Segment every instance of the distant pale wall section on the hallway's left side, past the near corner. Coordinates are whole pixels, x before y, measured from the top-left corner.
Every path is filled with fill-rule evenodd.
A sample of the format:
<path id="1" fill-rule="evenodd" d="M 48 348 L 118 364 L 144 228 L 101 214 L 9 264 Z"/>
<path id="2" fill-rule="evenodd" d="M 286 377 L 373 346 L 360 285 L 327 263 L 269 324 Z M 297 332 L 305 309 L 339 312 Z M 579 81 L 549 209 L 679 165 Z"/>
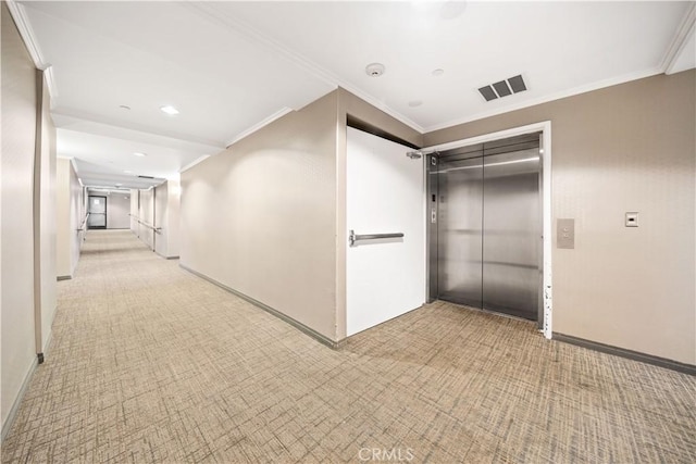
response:
<path id="1" fill-rule="evenodd" d="M 72 278 L 79 260 L 83 222 L 82 186 L 70 159 L 59 158 L 55 167 L 55 273 Z"/>

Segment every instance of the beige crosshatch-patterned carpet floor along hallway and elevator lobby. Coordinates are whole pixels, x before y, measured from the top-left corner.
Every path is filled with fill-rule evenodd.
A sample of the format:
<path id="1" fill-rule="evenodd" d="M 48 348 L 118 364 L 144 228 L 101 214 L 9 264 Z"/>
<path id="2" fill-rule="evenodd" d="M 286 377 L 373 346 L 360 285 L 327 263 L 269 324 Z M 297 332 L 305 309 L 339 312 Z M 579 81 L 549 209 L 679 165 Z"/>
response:
<path id="1" fill-rule="evenodd" d="M 694 463 L 696 378 L 437 302 L 338 351 L 90 231 L 3 463 Z"/>

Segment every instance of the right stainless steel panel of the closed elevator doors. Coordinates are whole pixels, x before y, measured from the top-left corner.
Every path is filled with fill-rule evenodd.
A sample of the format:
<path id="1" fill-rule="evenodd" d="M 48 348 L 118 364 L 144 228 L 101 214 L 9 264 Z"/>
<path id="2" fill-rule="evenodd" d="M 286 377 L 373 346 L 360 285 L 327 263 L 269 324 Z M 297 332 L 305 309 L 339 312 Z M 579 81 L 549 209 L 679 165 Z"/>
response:
<path id="1" fill-rule="evenodd" d="M 536 319 L 539 298 L 538 148 L 484 156 L 483 308 Z"/>

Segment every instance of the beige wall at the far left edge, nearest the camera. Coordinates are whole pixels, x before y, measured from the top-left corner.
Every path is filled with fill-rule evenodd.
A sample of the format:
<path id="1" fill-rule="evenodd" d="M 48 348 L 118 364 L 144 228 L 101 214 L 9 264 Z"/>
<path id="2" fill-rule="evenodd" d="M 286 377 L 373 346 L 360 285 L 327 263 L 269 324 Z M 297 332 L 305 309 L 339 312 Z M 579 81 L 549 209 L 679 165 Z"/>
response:
<path id="1" fill-rule="evenodd" d="M 33 177 L 36 75 L 4 2 L 2 15 L 1 417 L 2 431 L 36 360 Z"/>

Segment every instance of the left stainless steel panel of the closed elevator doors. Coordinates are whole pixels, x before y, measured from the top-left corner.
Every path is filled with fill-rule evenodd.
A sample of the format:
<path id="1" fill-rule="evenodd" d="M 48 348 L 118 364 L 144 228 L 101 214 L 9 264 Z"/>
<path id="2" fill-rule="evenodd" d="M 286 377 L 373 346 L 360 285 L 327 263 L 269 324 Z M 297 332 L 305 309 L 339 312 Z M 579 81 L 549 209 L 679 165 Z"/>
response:
<path id="1" fill-rule="evenodd" d="M 437 168 L 437 293 L 482 308 L 483 161 L 452 158 Z"/>

